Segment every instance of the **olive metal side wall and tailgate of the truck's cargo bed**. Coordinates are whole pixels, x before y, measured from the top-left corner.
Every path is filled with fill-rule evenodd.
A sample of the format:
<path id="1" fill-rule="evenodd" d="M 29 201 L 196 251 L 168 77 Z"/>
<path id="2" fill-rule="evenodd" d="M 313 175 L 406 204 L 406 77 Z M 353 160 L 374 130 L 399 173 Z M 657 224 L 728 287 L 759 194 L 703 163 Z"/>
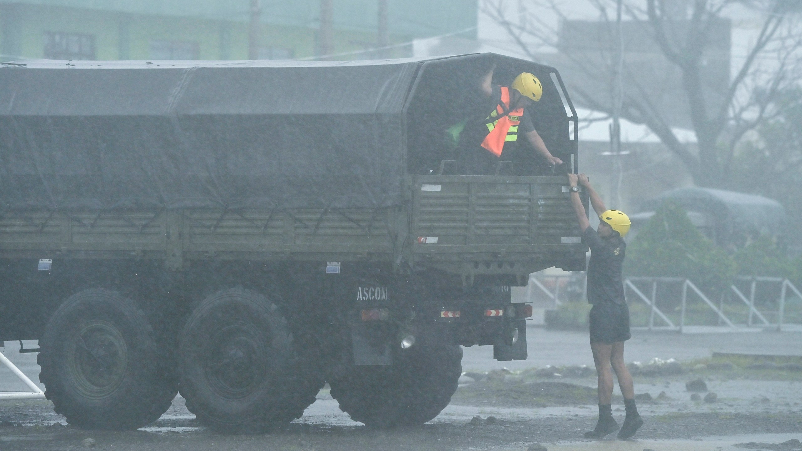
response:
<path id="1" fill-rule="evenodd" d="M 476 274 L 584 266 L 565 177 L 410 176 L 383 209 L 14 210 L 4 258 L 407 262 Z"/>

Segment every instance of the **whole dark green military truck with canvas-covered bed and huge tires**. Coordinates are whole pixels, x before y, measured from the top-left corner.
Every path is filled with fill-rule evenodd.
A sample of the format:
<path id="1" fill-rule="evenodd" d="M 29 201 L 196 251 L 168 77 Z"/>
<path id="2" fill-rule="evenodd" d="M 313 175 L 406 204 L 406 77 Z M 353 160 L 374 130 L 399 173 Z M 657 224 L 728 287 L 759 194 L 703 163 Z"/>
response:
<path id="1" fill-rule="evenodd" d="M 444 130 L 481 113 L 494 64 L 541 79 L 562 175 L 454 169 Z M 0 340 L 39 340 L 47 398 L 84 428 L 148 425 L 180 392 L 259 431 L 326 382 L 356 421 L 423 424 L 460 345 L 526 358 L 510 286 L 584 268 L 576 123 L 553 67 L 492 54 L 2 63 Z"/>

